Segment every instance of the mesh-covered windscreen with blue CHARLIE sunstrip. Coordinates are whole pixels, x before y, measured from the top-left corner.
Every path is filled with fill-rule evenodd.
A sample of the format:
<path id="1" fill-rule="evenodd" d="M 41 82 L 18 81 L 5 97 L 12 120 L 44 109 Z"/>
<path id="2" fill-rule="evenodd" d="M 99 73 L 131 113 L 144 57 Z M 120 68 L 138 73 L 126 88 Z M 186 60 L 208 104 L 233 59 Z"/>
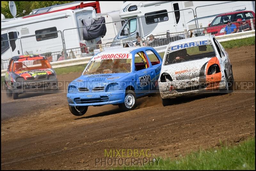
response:
<path id="1" fill-rule="evenodd" d="M 192 43 L 194 43 L 194 46 Z M 207 44 L 206 42 L 205 44 L 201 43 L 202 45 L 200 45 L 200 42 L 192 43 L 185 43 L 169 47 L 167 50 L 164 65 L 216 56 L 212 44 L 210 44 L 210 41 L 208 41 L 209 44 Z M 187 47 L 186 45 L 191 45 L 193 47 L 183 48 L 184 46 Z"/>

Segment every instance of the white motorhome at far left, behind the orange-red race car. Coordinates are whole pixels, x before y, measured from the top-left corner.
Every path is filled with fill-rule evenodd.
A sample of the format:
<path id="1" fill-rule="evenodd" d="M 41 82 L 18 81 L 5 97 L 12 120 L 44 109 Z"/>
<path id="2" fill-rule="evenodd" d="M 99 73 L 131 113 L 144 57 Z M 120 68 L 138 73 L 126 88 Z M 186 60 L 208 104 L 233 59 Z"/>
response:
<path id="1" fill-rule="evenodd" d="M 4 19 L 1 21 L 1 59 L 9 59 L 22 53 L 43 54 L 59 51 L 60 54 L 63 50 L 60 32 L 63 33 L 63 30 L 69 28 L 83 27 L 82 19 L 86 21 L 92 18 L 96 18 L 94 8 L 86 7 Z M 47 34 L 54 31 L 60 32 Z M 90 41 L 83 40 L 83 28 L 66 30 L 63 34 L 66 49 L 73 49 L 76 51 L 75 55 L 80 57 L 89 53 L 86 48 L 80 47 L 93 47 L 100 41 L 100 37 Z M 56 57 L 53 58 L 56 60 Z"/>

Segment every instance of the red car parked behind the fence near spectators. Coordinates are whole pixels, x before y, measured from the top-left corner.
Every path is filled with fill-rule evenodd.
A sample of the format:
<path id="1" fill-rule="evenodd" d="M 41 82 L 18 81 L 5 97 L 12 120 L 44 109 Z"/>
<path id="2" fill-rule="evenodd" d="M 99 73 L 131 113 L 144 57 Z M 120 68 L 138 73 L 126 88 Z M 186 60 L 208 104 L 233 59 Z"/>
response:
<path id="1" fill-rule="evenodd" d="M 206 28 L 207 34 L 210 33 L 211 35 L 215 36 L 224 35 L 228 19 L 230 19 L 232 24 L 236 25 L 237 29 L 240 26 L 240 22 L 237 22 L 237 19 L 245 19 L 250 28 L 252 28 L 250 19 L 253 19 L 253 25 L 255 28 L 255 13 L 253 11 L 237 11 L 220 14 L 215 17 L 212 23 L 208 25 L 209 27 Z"/>

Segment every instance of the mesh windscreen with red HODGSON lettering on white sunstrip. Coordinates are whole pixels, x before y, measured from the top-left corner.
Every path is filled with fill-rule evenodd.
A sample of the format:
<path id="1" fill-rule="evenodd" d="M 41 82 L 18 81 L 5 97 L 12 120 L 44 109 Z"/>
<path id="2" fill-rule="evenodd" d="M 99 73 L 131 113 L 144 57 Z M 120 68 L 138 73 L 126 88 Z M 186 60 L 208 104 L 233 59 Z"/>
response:
<path id="1" fill-rule="evenodd" d="M 83 75 L 130 73 L 132 68 L 132 54 L 101 54 L 92 58 L 86 66 Z"/>

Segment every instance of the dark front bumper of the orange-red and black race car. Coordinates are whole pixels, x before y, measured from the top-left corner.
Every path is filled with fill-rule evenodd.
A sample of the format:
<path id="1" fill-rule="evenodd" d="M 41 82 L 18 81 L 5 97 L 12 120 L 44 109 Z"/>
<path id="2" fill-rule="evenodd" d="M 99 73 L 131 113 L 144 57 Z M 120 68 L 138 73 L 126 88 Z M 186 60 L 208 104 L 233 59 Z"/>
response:
<path id="1" fill-rule="evenodd" d="M 40 80 L 40 81 L 18 81 L 10 86 L 13 93 L 25 93 L 30 91 L 44 91 L 49 89 L 58 89 L 58 80 Z"/>

